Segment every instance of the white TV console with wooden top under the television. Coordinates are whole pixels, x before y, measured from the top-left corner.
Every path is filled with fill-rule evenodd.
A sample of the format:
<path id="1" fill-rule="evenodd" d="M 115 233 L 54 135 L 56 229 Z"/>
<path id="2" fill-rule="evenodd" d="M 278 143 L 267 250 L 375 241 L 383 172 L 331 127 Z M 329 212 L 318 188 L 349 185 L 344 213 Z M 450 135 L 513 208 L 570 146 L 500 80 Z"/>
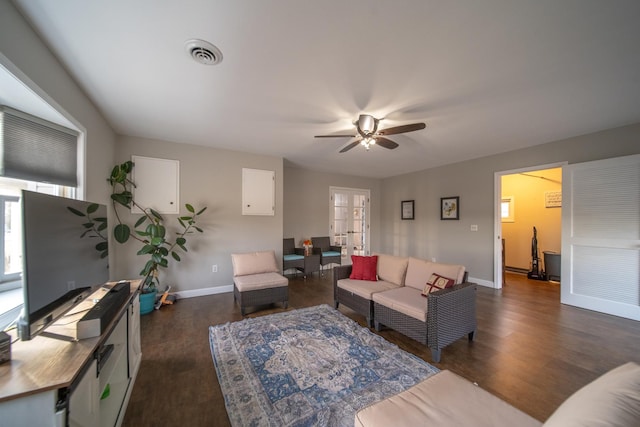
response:
<path id="1" fill-rule="evenodd" d="M 142 359 L 139 283 L 131 281 L 129 299 L 99 337 L 37 336 L 11 345 L 11 361 L 0 364 L 2 425 L 122 424 Z M 77 321 L 106 292 L 95 291 L 47 331 L 75 337 Z"/>

